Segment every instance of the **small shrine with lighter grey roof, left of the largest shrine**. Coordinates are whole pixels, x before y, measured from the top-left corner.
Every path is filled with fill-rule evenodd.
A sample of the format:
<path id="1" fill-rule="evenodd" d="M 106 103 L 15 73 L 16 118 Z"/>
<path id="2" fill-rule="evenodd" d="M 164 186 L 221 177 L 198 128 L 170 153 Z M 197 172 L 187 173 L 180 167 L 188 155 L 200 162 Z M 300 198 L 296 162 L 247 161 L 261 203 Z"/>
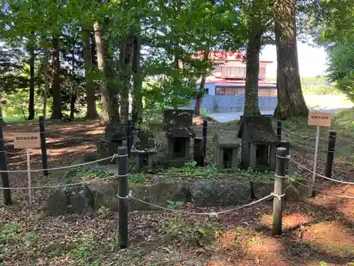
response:
<path id="1" fill-rule="evenodd" d="M 238 168 L 239 140 L 236 133 L 216 133 L 214 145 L 215 164 L 218 167 Z"/>

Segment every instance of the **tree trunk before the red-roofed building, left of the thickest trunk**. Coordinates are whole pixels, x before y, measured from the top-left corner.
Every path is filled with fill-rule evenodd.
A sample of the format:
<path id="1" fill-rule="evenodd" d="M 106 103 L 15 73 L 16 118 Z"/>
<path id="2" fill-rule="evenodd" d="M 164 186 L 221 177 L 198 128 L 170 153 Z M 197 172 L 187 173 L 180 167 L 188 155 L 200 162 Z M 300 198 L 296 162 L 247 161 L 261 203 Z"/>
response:
<path id="1" fill-rule="evenodd" d="M 258 74 L 261 45 L 262 33 L 255 33 L 250 36 L 246 50 L 245 116 L 261 115 L 258 106 Z"/>

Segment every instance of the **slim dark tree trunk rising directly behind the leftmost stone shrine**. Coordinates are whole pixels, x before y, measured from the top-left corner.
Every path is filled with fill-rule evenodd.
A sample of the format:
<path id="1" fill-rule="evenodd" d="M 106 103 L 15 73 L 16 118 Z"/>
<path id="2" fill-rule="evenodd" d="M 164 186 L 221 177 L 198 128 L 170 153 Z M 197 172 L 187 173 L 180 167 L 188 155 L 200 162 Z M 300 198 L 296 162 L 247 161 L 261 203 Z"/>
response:
<path id="1" fill-rule="evenodd" d="M 133 90 L 132 90 L 132 121 L 142 122 L 142 67 L 140 50 L 139 32 L 134 37 L 134 51 L 132 59 Z"/>

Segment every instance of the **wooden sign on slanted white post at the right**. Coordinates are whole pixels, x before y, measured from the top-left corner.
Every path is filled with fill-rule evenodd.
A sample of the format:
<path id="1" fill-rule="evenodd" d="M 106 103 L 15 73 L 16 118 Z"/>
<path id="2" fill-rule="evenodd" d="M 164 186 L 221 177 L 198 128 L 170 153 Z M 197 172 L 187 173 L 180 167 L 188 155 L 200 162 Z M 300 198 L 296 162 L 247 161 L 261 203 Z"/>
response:
<path id="1" fill-rule="evenodd" d="M 331 126 L 332 113 L 322 113 L 322 112 L 310 112 L 307 124 L 309 126 L 316 126 L 316 144 L 314 149 L 314 169 L 312 173 L 312 187 L 314 187 L 314 182 L 316 179 L 317 170 L 317 154 L 319 150 L 319 128 L 321 126 L 329 127 Z"/>

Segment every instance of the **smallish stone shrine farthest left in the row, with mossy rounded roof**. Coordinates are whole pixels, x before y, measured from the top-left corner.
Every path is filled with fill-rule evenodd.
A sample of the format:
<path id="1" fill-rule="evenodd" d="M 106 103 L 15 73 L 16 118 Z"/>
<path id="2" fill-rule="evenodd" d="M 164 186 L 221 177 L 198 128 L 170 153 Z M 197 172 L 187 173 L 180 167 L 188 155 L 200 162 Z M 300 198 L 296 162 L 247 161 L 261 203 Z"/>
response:
<path id="1" fill-rule="evenodd" d="M 152 171 L 153 155 L 157 153 L 156 140 L 152 131 L 137 131 L 130 153 L 135 157 L 135 170 Z"/>

